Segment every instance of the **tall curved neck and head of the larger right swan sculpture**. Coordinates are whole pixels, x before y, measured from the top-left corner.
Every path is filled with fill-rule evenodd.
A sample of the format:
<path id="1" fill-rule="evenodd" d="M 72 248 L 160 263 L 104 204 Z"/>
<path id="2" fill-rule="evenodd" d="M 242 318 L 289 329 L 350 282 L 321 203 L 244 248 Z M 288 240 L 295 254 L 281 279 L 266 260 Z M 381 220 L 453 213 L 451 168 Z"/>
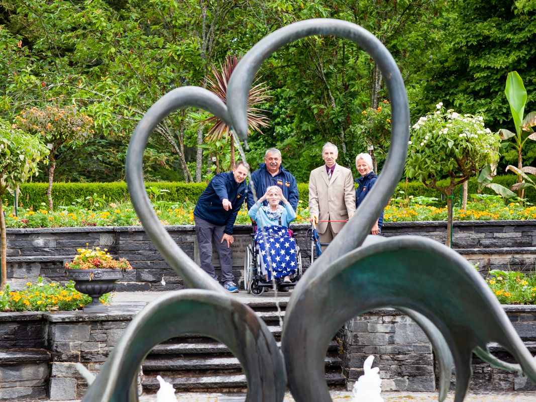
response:
<path id="1" fill-rule="evenodd" d="M 247 138 L 247 101 L 251 83 L 260 65 L 275 51 L 298 39 L 312 35 L 333 35 L 349 39 L 374 59 L 382 71 L 391 100 L 392 131 L 389 154 L 381 175 L 370 195 L 363 200 L 354 218 L 332 241 L 330 247 L 309 267 L 304 279 L 329 269 L 330 263 L 340 255 L 360 245 L 374 225 L 376 218 L 389 202 L 404 170 L 407 143 L 410 137 L 410 109 L 406 87 L 397 63 L 376 36 L 359 25 L 337 19 L 310 19 L 287 25 L 272 32 L 252 47 L 242 57 L 233 71 L 227 87 L 227 108 L 233 129 L 241 139 Z M 367 213 L 360 213 L 367 211 Z M 303 279 L 302 279 L 303 280 Z M 299 293 L 302 281 L 294 293 Z M 295 298 L 294 298 L 295 299 Z M 287 311 L 292 310 L 292 302 Z"/>

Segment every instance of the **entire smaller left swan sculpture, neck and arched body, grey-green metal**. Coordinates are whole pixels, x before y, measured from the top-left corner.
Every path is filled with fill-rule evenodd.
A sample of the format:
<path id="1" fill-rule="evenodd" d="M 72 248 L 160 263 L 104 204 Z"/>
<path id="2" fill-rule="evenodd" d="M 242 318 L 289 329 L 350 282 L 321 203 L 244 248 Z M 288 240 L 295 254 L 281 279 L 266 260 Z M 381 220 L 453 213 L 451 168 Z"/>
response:
<path id="1" fill-rule="evenodd" d="M 160 224 L 143 180 L 143 152 L 156 126 L 172 111 L 193 106 L 227 121 L 225 104 L 213 93 L 198 87 L 182 87 L 162 96 L 138 123 L 129 143 L 126 182 L 145 232 L 163 258 L 191 287 L 205 291 L 179 291 L 154 301 L 128 326 L 105 368 L 86 393 L 85 401 L 137 400 L 132 388 L 139 365 L 163 340 L 184 332 L 221 340 L 240 360 L 248 380 L 248 401 L 280 402 L 286 376 L 276 341 L 255 312 L 233 300 L 175 243 Z M 189 306 L 185 308 L 184 306 Z"/>

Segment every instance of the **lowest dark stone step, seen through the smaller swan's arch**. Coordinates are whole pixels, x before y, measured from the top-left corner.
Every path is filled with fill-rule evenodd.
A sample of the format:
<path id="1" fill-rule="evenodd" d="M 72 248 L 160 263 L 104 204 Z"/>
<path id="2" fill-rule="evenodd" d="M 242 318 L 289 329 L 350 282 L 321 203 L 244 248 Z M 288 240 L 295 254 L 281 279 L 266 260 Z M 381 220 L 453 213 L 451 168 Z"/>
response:
<path id="1" fill-rule="evenodd" d="M 161 374 L 160 374 L 161 375 Z M 218 392 L 221 390 L 245 389 L 247 382 L 244 374 L 211 374 L 211 375 L 192 375 L 183 377 L 169 377 L 161 375 L 167 382 L 173 384 L 177 390 L 196 390 Z M 330 386 L 344 385 L 344 376 L 340 373 L 326 373 L 326 382 Z M 154 392 L 160 388 L 156 375 L 144 376 L 142 386 L 146 392 Z"/>

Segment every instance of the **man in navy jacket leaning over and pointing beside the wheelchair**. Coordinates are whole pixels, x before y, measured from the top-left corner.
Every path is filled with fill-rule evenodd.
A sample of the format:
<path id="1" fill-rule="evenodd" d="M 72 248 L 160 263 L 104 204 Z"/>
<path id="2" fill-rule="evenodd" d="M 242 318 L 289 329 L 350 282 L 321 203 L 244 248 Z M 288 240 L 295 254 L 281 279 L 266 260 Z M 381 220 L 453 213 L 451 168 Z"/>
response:
<path id="1" fill-rule="evenodd" d="M 233 276 L 233 226 L 245 199 L 245 177 L 248 168 L 239 161 L 233 172 L 212 178 L 193 210 L 201 267 L 218 280 L 212 265 L 212 242 L 220 257 L 221 282 L 231 293 L 238 292 Z"/>

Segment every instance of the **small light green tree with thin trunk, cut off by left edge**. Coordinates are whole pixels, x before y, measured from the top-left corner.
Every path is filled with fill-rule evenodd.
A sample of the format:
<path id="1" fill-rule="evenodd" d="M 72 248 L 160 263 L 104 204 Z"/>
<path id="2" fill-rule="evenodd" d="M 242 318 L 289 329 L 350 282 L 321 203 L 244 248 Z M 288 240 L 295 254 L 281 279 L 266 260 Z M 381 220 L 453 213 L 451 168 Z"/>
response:
<path id="1" fill-rule="evenodd" d="M 37 171 L 38 162 L 46 157 L 48 149 L 40 140 L 12 127 L 0 119 L 0 290 L 7 281 L 6 253 L 8 244 L 5 232 L 3 195 L 14 190 Z"/>

